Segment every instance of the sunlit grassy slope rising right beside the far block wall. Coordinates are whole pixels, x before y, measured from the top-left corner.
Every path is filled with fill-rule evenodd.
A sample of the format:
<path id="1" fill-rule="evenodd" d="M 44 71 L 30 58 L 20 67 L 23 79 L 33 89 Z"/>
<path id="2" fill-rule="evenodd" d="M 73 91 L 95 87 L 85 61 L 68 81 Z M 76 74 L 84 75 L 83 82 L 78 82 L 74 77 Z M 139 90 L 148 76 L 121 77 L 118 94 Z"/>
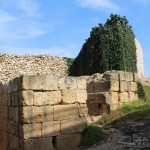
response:
<path id="1" fill-rule="evenodd" d="M 104 114 L 97 123 L 105 125 L 127 117 L 132 120 L 150 119 L 150 87 L 144 86 L 144 91 L 146 95 L 145 101 L 143 101 L 143 99 L 139 99 L 123 104 L 120 109 L 112 112 L 111 114 Z"/>

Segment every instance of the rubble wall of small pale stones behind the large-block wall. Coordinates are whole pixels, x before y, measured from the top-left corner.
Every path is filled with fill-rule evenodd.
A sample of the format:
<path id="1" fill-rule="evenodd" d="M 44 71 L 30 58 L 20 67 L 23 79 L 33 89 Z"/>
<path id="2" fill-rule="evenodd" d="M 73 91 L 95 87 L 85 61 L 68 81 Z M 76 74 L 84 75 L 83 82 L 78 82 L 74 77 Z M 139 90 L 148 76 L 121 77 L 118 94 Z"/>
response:
<path id="1" fill-rule="evenodd" d="M 67 68 L 66 60 L 57 56 L 0 53 L 0 82 L 23 74 L 65 76 Z"/>

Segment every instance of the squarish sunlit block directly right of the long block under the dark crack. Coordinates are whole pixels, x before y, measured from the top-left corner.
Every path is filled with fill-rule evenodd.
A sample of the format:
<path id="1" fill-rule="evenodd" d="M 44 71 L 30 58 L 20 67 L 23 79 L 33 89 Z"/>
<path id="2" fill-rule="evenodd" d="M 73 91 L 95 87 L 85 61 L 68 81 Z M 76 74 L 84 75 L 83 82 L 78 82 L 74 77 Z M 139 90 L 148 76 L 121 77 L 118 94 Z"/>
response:
<path id="1" fill-rule="evenodd" d="M 73 104 L 77 100 L 77 90 L 62 90 L 62 102 L 65 104 Z"/>

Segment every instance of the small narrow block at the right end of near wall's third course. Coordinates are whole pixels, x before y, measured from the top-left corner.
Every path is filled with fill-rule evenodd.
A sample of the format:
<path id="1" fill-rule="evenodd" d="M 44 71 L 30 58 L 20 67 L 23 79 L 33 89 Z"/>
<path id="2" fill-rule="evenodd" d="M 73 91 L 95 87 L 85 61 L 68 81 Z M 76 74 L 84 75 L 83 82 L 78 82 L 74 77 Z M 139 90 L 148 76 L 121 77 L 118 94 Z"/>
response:
<path id="1" fill-rule="evenodd" d="M 80 117 L 86 117 L 88 115 L 88 107 L 87 104 L 78 105 L 78 111 Z"/>

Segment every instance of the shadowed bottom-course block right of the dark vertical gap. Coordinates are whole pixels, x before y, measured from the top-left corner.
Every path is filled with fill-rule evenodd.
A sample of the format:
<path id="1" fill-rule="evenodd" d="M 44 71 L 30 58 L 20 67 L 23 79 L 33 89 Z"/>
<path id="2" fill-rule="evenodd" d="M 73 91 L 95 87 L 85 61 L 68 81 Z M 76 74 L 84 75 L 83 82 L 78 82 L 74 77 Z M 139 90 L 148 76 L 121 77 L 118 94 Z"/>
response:
<path id="1" fill-rule="evenodd" d="M 57 150 L 73 150 L 80 146 L 81 134 L 60 135 L 56 137 Z"/>

